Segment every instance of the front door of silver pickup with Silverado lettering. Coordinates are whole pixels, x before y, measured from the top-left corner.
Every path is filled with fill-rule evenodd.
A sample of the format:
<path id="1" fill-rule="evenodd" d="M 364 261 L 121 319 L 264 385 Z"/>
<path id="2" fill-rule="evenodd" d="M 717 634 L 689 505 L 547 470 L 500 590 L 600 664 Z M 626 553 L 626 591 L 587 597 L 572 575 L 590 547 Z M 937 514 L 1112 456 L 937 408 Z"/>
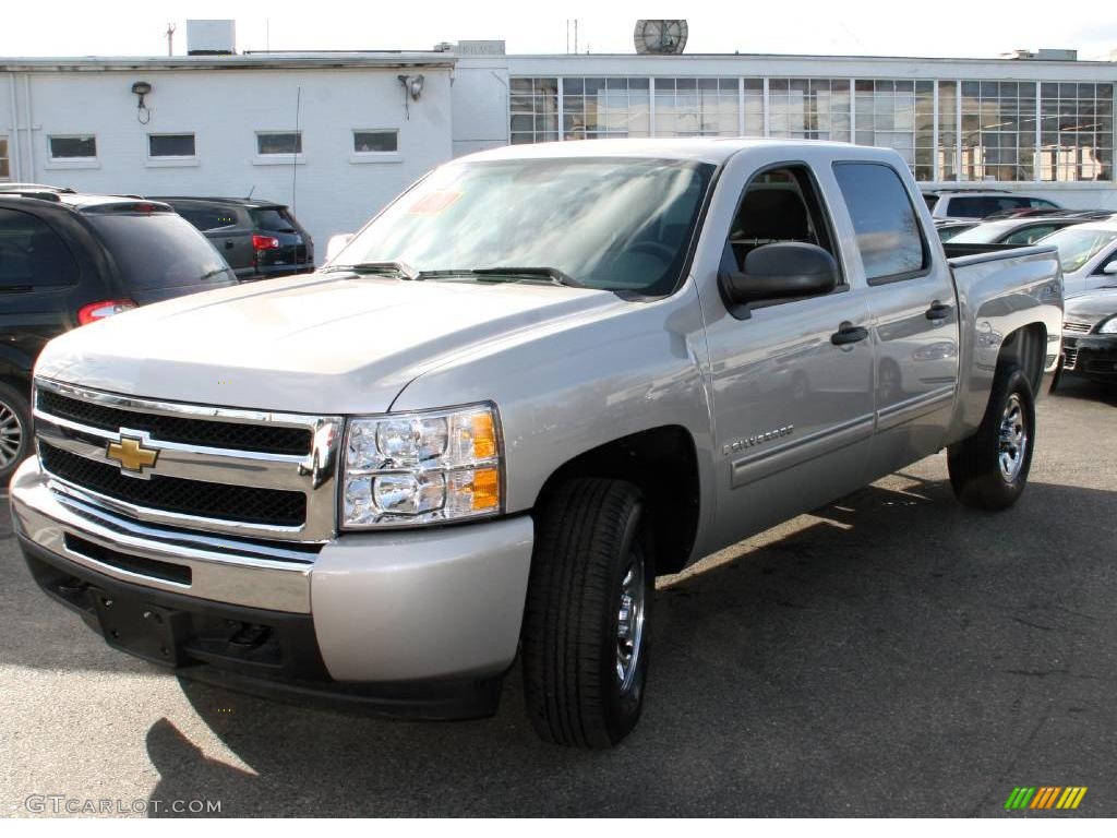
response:
<path id="1" fill-rule="evenodd" d="M 751 303 L 747 312 L 726 306 L 714 277 L 699 283 L 723 544 L 861 486 L 871 445 L 869 308 L 824 200 L 836 192 L 829 159 L 819 171 L 776 156 L 785 153 L 751 151 L 723 173 L 718 191 L 731 190 L 733 203 L 719 194 L 704 232 L 722 251 L 717 273 L 741 270 L 758 247 L 802 241 L 836 257 L 841 282 L 825 294 Z M 850 340 L 836 341 L 839 333 Z"/>

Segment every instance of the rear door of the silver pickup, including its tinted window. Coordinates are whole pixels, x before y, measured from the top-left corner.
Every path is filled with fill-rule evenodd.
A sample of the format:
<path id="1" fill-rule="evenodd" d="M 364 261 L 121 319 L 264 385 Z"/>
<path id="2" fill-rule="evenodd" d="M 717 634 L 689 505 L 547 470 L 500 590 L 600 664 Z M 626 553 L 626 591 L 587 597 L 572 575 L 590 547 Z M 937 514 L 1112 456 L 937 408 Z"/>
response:
<path id="1" fill-rule="evenodd" d="M 868 284 L 876 346 L 873 476 L 942 446 L 958 375 L 958 313 L 945 259 L 934 259 L 917 196 L 884 162 L 834 163 Z"/>

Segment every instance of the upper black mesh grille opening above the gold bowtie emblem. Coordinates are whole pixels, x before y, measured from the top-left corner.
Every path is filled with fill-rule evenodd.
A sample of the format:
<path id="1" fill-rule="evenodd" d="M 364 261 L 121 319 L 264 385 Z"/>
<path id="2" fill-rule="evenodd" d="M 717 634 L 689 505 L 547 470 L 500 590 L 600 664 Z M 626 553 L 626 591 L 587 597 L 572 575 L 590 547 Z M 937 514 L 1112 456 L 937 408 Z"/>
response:
<path id="1" fill-rule="evenodd" d="M 142 413 L 71 399 L 46 389 L 38 391 L 38 408 L 59 419 L 102 430 L 144 430 L 165 442 L 288 455 L 309 454 L 312 446 L 312 434 L 305 428 Z"/>

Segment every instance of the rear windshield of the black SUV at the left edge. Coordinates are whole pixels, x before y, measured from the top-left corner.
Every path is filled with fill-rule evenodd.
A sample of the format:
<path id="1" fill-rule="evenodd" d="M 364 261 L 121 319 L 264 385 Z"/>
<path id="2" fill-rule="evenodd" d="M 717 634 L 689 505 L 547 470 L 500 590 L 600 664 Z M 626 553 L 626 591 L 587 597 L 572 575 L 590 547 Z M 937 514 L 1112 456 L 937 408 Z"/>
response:
<path id="1" fill-rule="evenodd" d="M 236 277 L 209 239 L 173 212 L 84 213 L 127 288 L 220 287 Z"/>

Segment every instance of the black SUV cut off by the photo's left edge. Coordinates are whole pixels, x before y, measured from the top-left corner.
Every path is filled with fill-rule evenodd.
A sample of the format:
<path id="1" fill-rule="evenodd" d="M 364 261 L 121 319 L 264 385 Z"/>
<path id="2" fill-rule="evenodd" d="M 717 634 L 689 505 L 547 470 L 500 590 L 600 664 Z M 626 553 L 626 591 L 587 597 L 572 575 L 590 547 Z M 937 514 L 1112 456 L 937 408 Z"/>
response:
<path id="1" fill-rule="evenodd" d="M 0 491 L 31 450 L 31 370 L 76 326 L 236 285 L 221 255 L 165 203 L 0 187 Z"/>

